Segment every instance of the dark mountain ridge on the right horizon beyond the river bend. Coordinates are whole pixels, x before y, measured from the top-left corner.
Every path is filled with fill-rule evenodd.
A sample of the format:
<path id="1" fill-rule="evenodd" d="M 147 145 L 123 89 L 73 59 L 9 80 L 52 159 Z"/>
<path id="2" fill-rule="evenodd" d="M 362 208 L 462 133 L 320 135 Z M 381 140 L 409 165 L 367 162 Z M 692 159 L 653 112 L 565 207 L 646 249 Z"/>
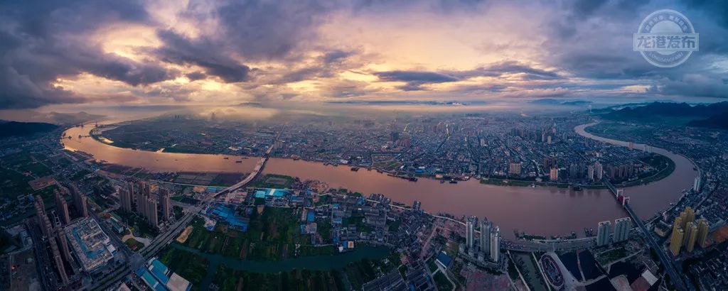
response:
<path id="1" fill-rule="evenodd" d="M 601 117 L 618 121 L 684 121 L 694 127 L 728 129 L 728 101 L 707 105 L 654 102 L 612 110 Z"/>

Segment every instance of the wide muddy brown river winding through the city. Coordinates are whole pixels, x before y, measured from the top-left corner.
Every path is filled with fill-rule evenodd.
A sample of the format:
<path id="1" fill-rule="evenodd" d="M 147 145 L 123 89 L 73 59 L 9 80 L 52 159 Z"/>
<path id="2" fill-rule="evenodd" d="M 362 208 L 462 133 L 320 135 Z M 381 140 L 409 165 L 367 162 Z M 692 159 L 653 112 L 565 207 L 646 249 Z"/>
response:
<path id="1" fill-rule="evenodd" d="M 592 124 L 583 124 L 575 130 L 585 137 L 626 146 L 622 141 L 590 135 L 584 131 L 590 125 Z M 111 164 L 143 167 L 159 172 L 250 172 L 258 160 L 242 159 L 242 163 L 236 163 L 240 156 L 138 151 L 110 146 L 91 137 L 78 138 L 79 135 L 88 135 L 90 129 L 91 127 L 68 129 L 66 135 L 73 138 L 63 141 L 66 148 L 84 151 L 92 154 L 95 159 Z M 636 148 L 643 147 L 638 145 Z M 684 156 L 660 148 L 652 148 L 652 151 L 668 156 L 675 162 L 676 169 L 665 179 L 625 189 L 625 195 L 630 196 L 633 209 L 642 218 L 650 218 L 656 212 L 668 208 L 670 202 L 679 199 L 682 189 L 692 186 L 692 181 L 697 176 L 692 162 Z M 457 184 L 440 183 L 432 179 L 410 182 L 365 169 L 353 172 L 349 167 L 277 158 L 269 159 L 264 173 L 290 175 L 302 180 L 321 180 L 332 187 L 344 187 L 365 195 L 381 193 L 405 204 L 419 200 L 422 208 L 431 213 L 447 212 L 456 216 L 487 217 L 500 226 L 505 238 L 513 238 L 515 229 L 542 235 L 563 235 L 576 231 L 582 236 L 585 227 L 596 228 L 600 221 L 627 216 L 615 202 L 614 196 L 604 189 L 571 191 L 555 187 L 493 186 L 481 184 L 474 179 Z"/>

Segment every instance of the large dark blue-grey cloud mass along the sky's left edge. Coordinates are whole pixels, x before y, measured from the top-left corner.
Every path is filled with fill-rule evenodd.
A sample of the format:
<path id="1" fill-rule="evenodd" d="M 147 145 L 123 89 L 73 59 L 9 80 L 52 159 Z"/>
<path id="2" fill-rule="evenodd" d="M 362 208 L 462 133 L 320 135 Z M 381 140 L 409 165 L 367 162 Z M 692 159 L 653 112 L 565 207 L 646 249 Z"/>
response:
<path id="1" fill-rule="evenodd" d="M 86 97 L 54 87 L 59 77 L 91 73 L 131 85 L 150 84 L 175 72 L 153 63 L 108 55 L 87 41 L 107 23 L 146 23 L 135 1 L 4 1 L 0 9 L 0 108 L 78 103 Z"/>

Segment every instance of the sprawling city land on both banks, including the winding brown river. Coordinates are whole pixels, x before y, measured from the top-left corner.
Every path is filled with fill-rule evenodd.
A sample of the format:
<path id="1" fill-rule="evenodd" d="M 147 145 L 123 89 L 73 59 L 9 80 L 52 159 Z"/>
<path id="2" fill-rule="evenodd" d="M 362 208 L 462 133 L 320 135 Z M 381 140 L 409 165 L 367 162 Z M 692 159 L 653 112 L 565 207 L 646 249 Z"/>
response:
<path id="1" fill-rule="evenodd" d="M 716 138 L 711 129 L 660 127 L 690 136 L 673 144 L 638 133 L 655 125 L 593 118 L 162 115 L 13 137 L 1 163 L 3 262 L 27 268 L 17 258 L 34 252 L 31 264 L 47 271 L 29 278 L 45 289 L 719 284 L 721 271 L 703 263 L 721 258 L 728 237 L 713 163 L 725 157 L 703 140 Z M 617 129 L 634 130 L 633 141 L 616 140 Z M 175 145 L 201 148 L 168 154 Z M 550 215 L 527 219 L 541 195 Z M 552 210 L 574 200 L 581 206 Z M 475 207 L 452 206 L 467 204 Z"/>

